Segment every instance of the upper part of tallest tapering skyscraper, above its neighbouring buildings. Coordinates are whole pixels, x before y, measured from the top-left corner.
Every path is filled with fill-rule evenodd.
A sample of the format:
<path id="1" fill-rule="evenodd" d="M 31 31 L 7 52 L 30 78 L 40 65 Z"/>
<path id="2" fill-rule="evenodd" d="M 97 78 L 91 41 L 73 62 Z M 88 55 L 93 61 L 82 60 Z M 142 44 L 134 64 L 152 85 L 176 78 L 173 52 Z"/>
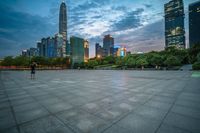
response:
<path id="1" fill-rule="evenodd" d="M 59 13 L 59 33 L 66 37 L 67 40 L 67 6 L 65 2 L 60 5 Z"/>

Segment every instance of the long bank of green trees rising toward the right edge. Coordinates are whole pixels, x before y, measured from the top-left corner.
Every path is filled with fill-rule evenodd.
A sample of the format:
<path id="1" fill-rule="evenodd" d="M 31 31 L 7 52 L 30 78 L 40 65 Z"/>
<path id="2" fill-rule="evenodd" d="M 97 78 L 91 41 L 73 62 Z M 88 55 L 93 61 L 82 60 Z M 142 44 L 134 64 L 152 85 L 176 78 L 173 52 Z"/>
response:
<path id="1" fill-rule="evenodd" d="M 197 56 L 198 53 L 200 53 L 200 46 L 198 45 L 191 49 L 169 47 L 160 52 L 152 51 L 145 54 L 128 55 L 126 57 L 108 56 L 103 59 L 94 58 L 89 60 L 88 63 L 81 63 L 77 66 L 81 68 L 95 68 L 98 66 L 106 67 L 109 65 L 114 65 L 119 68 L 174 68 L 184 64 L 200 64 Z"/>

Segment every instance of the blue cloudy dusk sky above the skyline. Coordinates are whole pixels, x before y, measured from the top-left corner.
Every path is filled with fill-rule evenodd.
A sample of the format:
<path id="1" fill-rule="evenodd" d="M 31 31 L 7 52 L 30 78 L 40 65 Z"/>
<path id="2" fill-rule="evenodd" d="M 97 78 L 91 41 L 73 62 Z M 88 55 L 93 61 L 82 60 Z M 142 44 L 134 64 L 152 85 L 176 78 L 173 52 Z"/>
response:
<path id="1" fill-rule="evenodd" d="M 188 5 L 184 0 L 188 40 Z M 42 37 L 58 33 L 62 0 L 0 0 L 0 57 L 19 55 L 36 47 Z M 111 34 L 115 44 L 131 52 L 164 48 L 164 4 L 169 0 L 66 0 L 68 35 L 90 41 L 90 57 L 96 42 Z M 69 38 L 68 36 L 68 38 Z M 188 41 L 187 41 L 188 42 Z"/>

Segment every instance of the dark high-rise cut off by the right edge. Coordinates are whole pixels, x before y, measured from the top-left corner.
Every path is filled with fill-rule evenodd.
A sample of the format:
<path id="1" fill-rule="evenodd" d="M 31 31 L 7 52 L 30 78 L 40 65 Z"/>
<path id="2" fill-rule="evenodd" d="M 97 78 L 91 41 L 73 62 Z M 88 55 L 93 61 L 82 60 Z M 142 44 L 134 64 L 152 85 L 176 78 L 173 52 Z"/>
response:
<path id="1" fill-rule="evenodd" d="M 200 45 L 200 1 L 189 5 L 189 44 Z"/>

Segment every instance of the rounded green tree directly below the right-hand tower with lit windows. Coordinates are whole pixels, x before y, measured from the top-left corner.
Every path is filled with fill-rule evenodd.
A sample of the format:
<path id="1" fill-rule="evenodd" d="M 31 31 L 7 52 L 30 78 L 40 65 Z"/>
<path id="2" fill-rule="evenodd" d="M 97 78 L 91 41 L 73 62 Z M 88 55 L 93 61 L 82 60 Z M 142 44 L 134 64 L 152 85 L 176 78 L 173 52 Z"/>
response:
<path id="1" fill-rule="evenodd" d="M 169 57 L 167 57 L 167 59 L 165 60 L 164 64 L 168 67 L 173 67 L 173 66 L 180 66 L 181 65 L 181 61 L 176 57 L 176 56 L 172 56 L 170 55 Z"/>

